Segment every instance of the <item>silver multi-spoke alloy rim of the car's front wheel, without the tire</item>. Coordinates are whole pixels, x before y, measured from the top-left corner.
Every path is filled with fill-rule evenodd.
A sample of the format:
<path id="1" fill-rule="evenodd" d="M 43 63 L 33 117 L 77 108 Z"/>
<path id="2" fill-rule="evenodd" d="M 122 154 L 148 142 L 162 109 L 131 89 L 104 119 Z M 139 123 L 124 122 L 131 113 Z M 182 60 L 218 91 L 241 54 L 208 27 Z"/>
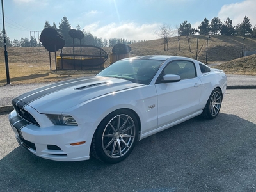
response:
<path id="1" fill-rule="evenodd" d="M 136 126 L 129 115 L 113 117 L 102 134 L 102 148 L 106 156 L 119 158 L 129 152 L 136 136 Z"/>

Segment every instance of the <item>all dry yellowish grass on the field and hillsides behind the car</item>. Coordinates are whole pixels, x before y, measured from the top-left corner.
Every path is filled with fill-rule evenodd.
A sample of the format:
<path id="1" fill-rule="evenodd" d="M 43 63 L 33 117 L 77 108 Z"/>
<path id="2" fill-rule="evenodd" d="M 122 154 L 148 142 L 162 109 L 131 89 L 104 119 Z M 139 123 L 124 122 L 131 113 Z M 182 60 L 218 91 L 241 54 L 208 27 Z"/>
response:
<path id="1" fill-rule="evenodd" d="M 256 75 L 256 56 L 239 58 L 241 54 L 243 38 L 237 36 L 211 36 L 208 42 L 208 63 L 223 63 L 218 68 L 227 74 L 251 74 Z M 180 42 L 180 49 L 179 49 Z M 169 51 L 163 51 L 163 40 L 150 40 L 131 44 L 130 56 L 148 54 L 167 54 L 175 56 L 196 57 L 197 36 L 190 37 L 189 52 L 188 41 L 184 37 L 172 38 L 169 42 Z M 207 36 L 199 36 L 198 60 L 205 63 Z M 256 39 L 246 38 L 244 40 L 245 49 L 256 50 Z M 112 48 L 105 51 L 110 56 Z M 10 81 L 12 84 L 29 84 L 54 82 L 64 79 L 77 78 L 82 76 L 92 76 L 99 71 L 75 71 L 75 70 L 55 70 L 54 53 L 51 53 L 50 70 L 49 52 L 44 47 L 8 47 L 8 63 L 10 71 Z M 56 52 L 60 55 L 60 52 Z M 105 67 L 109 65 L 109 58 Z M 0 85 L 6 84 L 6 67 L 4 61 L 4 48 L 0 49 Z"/>

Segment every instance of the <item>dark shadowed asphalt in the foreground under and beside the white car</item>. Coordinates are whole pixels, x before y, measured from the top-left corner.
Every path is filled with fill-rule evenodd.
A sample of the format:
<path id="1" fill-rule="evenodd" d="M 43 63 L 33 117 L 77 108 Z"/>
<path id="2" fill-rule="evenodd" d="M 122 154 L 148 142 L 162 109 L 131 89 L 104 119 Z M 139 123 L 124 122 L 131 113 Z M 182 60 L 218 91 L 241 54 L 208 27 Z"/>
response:
<path id="1" fill-rule="evenodd" d="M 17 147 L 0 161 L 3 191 L 246 191 L 255 187 L 256 125 L 220 113 L 137 143 L 127 159 L 58 162 Z"/>

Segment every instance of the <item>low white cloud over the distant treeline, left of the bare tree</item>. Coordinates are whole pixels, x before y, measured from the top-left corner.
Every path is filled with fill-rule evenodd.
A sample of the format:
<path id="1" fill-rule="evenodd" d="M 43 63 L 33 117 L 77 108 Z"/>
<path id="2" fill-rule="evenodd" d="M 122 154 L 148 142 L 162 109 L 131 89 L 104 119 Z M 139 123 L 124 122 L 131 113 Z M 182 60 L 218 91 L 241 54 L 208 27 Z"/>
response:
<path id="1" fill-rule="evenodd" d="M 92 35 L 101 37 L 102 39 L 109 38 L 124 38 L 127 40 L 153 40 L 156 39 L 153 31 L 157 29 L 159 24 L 143 24 L 139 25 L 134 22 L 124 23 L 121 25 L 115 22 L 106 26 L 99 26 L 99 22 L 95 22 L 88 26 L 84 26 L 84 30 Z"/>

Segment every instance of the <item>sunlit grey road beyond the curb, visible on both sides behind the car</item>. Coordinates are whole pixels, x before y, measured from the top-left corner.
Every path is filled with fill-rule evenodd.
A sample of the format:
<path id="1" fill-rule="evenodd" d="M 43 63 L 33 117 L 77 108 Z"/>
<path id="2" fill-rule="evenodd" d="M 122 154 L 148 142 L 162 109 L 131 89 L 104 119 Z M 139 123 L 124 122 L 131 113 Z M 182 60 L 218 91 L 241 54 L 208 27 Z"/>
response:
<path id="1" fill-rule="evenodd" d="M 227 75 L 227 89 L 250 89 L 256 88 L 256 76 Z M 13 110 L 12 99 L 49 83 L 38 84 L 6 84 L 0 86 L 0 113 L 8 113 Z"/>

